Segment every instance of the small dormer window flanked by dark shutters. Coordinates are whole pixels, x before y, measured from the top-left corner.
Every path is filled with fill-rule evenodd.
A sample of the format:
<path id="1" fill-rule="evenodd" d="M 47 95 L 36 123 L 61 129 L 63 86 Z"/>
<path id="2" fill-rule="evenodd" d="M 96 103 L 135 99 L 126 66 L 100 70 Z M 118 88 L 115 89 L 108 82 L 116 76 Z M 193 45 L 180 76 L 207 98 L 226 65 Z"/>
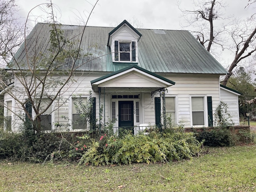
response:
<path id="1" fill-rule="evenodd" d="M 114 60 L 117 62 L 136 62 L 135 41 L 118 42 L 115 41 Z"/>

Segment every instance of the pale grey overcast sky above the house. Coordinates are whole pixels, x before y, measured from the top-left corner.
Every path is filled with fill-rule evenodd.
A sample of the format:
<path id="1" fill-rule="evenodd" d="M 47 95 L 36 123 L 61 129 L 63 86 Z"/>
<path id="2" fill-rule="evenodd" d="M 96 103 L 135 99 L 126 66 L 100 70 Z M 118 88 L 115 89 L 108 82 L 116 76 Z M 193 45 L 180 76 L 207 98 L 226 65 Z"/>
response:
<path id="1" fill-rule="evenodd" d="M 47 0 L 16 0 L 16 4 L 20 7 L 19 14 L 24 20 L 36 5 L 48 2 Z M 72 25 L 83 25 L 82 20 L 87 20 L 88 12 L 92 10 L 95 2 L 96 0 L 52 0 L 52 3 L 60 9 L 56 12 L 57 20 L 62 24 Z M 226 4 L 223 18 L 231 15 L 236 18 L 246 18 L 256 13 L 254 8 L 256 4 L 245 9 L 248 0 L 222 0 L 222 2 Z M 192 0 L 180 0 L 180 3 L 177 0 L 99 0 L 90 16 L 88 26 L 117 26 L 125 19 L 132 24 L 133 18 L 136 18 L 142 28 L 192 30 L 190 27 L 182 27 L 186 23 L 179 7 L 183 10 L 196 9 Z M 33 21 L 36 16 L 37 22 L 44 22 L 46 16 L 43 16 L 45 13 L 42 9 L 41 7 L 32 10 L 29 19 Z M 41 17 L 38 18 L 38 16 Z M 36 22 L 30 22 L 31 26 L 34 24 Z M 220 62 L 226 66 L 230 59 Z"/>

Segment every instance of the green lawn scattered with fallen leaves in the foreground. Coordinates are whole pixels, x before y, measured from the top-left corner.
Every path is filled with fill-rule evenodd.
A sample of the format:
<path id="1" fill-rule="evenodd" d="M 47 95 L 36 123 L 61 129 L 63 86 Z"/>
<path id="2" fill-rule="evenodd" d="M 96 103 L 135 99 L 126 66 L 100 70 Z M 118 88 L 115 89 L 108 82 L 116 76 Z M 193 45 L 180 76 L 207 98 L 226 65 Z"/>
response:
<path id="1" fill-rule="evenodd" d="M 0 192 L 256 191 L 256 146 L 208 148 L 192 160 L 128 166 L 0 161 Z"/>

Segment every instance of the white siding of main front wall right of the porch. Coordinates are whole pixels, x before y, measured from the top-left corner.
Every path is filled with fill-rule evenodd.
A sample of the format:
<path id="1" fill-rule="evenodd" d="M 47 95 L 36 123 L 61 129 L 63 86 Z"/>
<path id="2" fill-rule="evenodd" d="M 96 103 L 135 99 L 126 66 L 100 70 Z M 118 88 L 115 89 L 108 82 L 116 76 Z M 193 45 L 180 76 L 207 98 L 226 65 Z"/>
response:
<path id="1" fill-rule="evenodd" d="M 207 96 L 212 97 L 212 110 L 213 115 L 216 107 L 220 103 L 219 97 L 219 78 L 218 76 L 165 76 L 166 78 L 175 82 L 174 86 L 168 88 L 166 96 L 172 95 L 178 98 L 177 104 L 177 118 L 178 123 L 184 124 L 185 127 L 192 127 L 192 114 L 190 106 L 191 96 L 204 96 L 205 100 Z M 207 102 L 206 116 L 208 116 Z M 208 126 L 208 119 L 205 119 L 205 126 Z"/>

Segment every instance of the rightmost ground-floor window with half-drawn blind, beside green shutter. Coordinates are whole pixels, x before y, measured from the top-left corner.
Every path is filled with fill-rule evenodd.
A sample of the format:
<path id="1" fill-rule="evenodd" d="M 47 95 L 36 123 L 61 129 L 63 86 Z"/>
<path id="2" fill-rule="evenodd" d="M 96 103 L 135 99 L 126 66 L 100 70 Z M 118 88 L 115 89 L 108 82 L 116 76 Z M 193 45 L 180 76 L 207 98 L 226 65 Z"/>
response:
<path id="1" fill-rule="evenodd" d="M 204 125 L 204 97 L 192 97 L 192 125 Z"/>

